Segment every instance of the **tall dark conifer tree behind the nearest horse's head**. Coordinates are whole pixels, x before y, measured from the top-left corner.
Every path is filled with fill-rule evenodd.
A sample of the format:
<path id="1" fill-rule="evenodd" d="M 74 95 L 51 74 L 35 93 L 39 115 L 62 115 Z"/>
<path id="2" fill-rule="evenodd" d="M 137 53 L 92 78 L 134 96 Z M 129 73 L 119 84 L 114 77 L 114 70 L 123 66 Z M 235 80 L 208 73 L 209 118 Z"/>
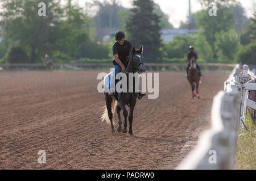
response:
<path id="1" fill-rule="evenodd" d="M 152 0 L 136 0 L 133 2 L 131 15 L 126 23 L 126 29 L 130 33 L 130 40 L 138 47 L 144 46 L 145 61 L 160 62 L 160 16 L 154 12 Z"/>

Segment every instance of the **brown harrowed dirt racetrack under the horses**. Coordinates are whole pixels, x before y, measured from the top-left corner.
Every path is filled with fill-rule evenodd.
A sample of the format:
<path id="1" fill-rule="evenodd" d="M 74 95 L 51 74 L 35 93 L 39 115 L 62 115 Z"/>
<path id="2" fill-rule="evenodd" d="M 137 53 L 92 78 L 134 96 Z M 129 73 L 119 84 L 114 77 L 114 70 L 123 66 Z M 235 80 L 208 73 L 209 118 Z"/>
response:
<path id="1" fill-rule="evenodd" d="M 174 169 L 210 126 L 228 78 L 204 73 L 197 100 L 184 73 L 159 73 L 159 98 L 138 100 L 130 137 L 101 123 L 98 73 L 0 72 L 0 169 Z"/>

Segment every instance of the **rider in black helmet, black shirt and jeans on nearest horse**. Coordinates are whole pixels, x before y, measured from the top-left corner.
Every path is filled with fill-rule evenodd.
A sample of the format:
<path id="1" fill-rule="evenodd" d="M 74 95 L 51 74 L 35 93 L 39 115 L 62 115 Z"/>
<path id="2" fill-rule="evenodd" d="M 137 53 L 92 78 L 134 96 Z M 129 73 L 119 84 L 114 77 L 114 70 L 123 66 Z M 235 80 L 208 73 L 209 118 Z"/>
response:
<path id="1" fill-rule="evenodd" d="M 115 40 L 115 44 L 113 45 L 113 68 L 115 70 L 115 75 L 117 75 L 119 72 L 125 71 L 125 62 L 131 50 L 133 49 L 133 45 L 130 41 L 125 40 L 125 33 L 122 31 L 118 31 L 115 34 Z M 109 95 L 114 96 L 114 91 L 115 90 L 110 89 Z M 139 91 L 138 98 L 141 99 L 144 95 L 146 94 L 143 94 L 141 91 Z"/>

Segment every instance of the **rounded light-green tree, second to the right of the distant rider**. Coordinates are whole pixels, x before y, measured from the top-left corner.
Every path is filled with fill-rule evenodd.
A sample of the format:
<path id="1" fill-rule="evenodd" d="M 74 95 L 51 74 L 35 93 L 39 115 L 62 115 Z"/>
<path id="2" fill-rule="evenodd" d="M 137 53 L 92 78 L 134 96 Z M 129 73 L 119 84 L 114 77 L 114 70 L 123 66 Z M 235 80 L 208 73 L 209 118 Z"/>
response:
<path id="1" fill-rule="evenodd" d="M 221 31 L 215 33 L 214 48 L 216 49 L 219 61 L 234 62 L 234 56 L 240 48 L 240 38 L 235 30 L 228 32 Z"/>

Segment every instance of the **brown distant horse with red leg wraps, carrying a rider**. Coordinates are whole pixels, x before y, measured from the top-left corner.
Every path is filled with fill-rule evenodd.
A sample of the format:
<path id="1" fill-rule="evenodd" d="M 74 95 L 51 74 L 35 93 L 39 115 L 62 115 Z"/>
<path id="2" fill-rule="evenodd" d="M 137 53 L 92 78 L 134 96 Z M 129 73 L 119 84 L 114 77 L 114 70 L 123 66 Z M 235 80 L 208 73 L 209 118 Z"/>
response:
<path id="1" fill-rule="evenodd" d="M 199 72 L 196 68 L 196 59 L 193 57 L 191 58 L 191 61 L 189 62 L 189 70 L 188 70 L 188 81 L 191 84 L 192 87 L 192 98 L 197 98 L 199 99 L 199 85 L 200 85 L 200 77 L 199 77 Z M 195 92 L 196 88 L 196 92 Z"/>

